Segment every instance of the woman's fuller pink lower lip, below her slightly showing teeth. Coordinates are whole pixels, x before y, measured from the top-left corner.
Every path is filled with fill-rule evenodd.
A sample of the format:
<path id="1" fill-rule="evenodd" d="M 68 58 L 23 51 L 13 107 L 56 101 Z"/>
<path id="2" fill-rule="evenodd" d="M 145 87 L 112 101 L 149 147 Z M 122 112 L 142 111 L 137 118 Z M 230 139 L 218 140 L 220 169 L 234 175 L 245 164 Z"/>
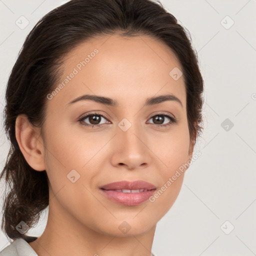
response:
<path id="1" fill-rule="evenodd" d="M 138 205 L 146 201 L 155 192 L 155 189 L 138 193 L 124 193 L 115 190 L 105 190 L 102 188 L 100 190 L 112 201 L 128 206 Z"/>

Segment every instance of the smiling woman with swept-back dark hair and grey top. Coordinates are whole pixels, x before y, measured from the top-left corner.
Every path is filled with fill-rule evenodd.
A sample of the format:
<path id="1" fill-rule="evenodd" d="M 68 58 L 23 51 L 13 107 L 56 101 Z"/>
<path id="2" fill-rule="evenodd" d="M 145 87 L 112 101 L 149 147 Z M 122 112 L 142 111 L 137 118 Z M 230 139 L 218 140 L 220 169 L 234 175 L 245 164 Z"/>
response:
<path id="1" fill-rule="evenodd" d="M 190 40 L 151 0 L 70 0 L 38 21 L 6 88 L 1 256 L 151 255 L 202 129 Z"/>

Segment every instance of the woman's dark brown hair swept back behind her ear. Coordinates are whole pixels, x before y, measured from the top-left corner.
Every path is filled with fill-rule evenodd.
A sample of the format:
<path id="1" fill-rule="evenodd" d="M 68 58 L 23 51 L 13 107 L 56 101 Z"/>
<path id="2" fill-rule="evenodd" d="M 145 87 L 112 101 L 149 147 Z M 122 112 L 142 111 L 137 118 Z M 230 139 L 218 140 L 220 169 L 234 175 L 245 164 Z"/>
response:
<path id="1" fill-rule="evenodd" d="M 191 14 L 192 15 L 192 14 Z M 26 162 L 15 137 L 15 120 L 24 113 L 32 125 L 43 127 L 46 95 L 61 75 L 63 56 L 96 35 L 149 35 L 165 43 L 181 64 L 186 89 L 190 139 L 201 134 L 203 79 L 189 32 L 159 0 L 70 0 L 43 16 L 27 35 L 11 70 L 4 108 L 4 128 L 10 149 L 0 178 L 5 174 L 1 229 L 11 239 L 27 235 L 15 227 L 32 227 L 48 206 L 46 171 Z"/>

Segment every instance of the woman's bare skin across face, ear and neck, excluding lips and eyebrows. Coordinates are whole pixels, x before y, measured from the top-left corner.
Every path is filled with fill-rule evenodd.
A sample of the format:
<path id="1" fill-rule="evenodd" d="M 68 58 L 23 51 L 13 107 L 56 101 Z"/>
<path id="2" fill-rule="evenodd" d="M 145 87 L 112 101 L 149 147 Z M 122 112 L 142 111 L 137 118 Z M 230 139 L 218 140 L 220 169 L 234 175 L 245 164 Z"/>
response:
<path id="1" fill-rule="evenodd" d="M 159 189 L 192 156 L 183 76 L 174 80 L 169 75 L 175 66 L 181 69 L 174 53 L 148 36 L 100 36 L 67 53 L 60 80 L 94 48 L 99 50 L 95 57 L 47 100 L 44 137 L 25 115 L 16 119 L 16 138 L 26 161 L 37 171 L 45 169 L 50 181 L 45 230 L 29 243 L 39 256 L 150 255 L 156 223 L 174 203 L 184 173 L 154 202 L 136 206 L 111 201 L 99 187 L 142 179 Z M 176 101 L 144 106 L 147 98 L 165 93 L 178 97 L 183 107 Z M 82 94 L 110 97 L 119 106 L 91 100 L 66 106 Z M 79 117 L 92 111 L 110 122 L 101 117 L 96 128 L 79 123 Z M 156 126 L 151 117 L 160 112 L 174 115 L 177 123 Z M 131 123 L 125 132 L 117 125 L 123 118 Z M 91 124 L 88 118 L 84 122 Z M 67 178 L 72 169 L 80 174 L 74 183 Z M 131 227 L 126 233 L 118 228 L 123 221 Z"/>

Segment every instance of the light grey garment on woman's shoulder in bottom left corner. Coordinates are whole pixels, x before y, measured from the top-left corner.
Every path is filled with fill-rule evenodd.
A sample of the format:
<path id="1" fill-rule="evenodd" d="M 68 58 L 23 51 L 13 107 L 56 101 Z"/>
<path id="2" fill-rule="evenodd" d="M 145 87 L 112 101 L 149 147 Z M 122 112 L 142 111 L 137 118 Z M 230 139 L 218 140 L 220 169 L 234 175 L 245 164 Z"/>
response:
<path id="1" fill-rule="evenodd" d="M 0 256 L 38 256 L 33 248 L 22 238 L 17 238 L 0 251 Z"/>

